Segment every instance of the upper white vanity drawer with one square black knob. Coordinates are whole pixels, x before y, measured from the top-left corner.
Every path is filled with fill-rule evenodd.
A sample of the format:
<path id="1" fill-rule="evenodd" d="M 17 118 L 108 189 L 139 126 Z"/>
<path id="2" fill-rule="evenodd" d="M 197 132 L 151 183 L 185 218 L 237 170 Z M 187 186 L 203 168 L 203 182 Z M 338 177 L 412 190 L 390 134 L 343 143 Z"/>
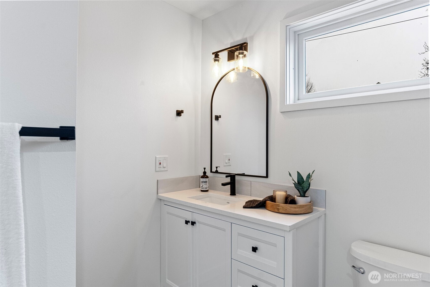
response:
<path id="1" fill-rule="evenodd" d="M 284 278 L 284 238 L 282 236 L 233 223 L 231 257 Z"/>

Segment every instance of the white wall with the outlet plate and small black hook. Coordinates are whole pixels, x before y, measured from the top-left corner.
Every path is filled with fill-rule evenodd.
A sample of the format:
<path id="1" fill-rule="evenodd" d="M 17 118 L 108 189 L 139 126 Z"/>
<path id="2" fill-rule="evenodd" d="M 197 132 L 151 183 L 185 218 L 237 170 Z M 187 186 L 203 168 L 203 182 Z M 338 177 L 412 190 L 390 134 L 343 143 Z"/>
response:
<path id="1" fill-rule="evenodd" d="M 201 23 L 163 1 L 79 3 L 77 286 L 160 285 L 157 179 L 203 170 Z"/>

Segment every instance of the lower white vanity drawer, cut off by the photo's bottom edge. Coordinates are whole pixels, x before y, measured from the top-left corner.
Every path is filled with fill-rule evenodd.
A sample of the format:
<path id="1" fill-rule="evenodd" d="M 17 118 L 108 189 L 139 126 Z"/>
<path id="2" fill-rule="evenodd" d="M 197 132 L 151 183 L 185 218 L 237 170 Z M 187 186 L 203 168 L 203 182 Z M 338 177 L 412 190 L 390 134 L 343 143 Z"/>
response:
<path id="1" fill-rule="evenodd" d="M 231 260 L 231 287 L 283 287 L 284 280 L 254 267 Z"/>

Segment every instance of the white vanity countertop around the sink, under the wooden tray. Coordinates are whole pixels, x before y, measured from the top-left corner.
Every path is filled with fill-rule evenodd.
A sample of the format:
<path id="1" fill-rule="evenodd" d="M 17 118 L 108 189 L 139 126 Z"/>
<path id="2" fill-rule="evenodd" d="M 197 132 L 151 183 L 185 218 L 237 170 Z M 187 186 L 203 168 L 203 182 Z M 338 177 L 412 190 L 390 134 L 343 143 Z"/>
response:
<path id="1" fill-rule="evenodd" d="M 218 205 L 215 203 L 203 202 L 198 199 L 189 198 L 190 196 L 215 193 L 224 196 L 230 196 L 227 192 L 209 190 L 209 192 L 201 192 L 200 189 L 188 189 L 176 192 L 162 193 L 158 195 L 158 198 L 165 200 L 166 202 L 175 202 L 181 205 L 189 206 L 192 208 L 202 209 L 204 211 L 210 211 L 216 214 L 222 214 L 238 218 L 241 220 L 247 220 L 254 223 L 264 224 L 277 229 L 292 230 L 298 226 L 307 223 L 316 217 L 326 213 L 323 208 L 313 208 L 313 212 L 308 214 L 282 214 L 277 212 L 268 211 L 264 206 L 260 208 L 243 208 L 243 205 L 247 200 L 250 199 L 261 199 L 246 195 L 232 196 L 234 198 L 243 199 L 242 202 L 233 202 L 229 205 Z"/>

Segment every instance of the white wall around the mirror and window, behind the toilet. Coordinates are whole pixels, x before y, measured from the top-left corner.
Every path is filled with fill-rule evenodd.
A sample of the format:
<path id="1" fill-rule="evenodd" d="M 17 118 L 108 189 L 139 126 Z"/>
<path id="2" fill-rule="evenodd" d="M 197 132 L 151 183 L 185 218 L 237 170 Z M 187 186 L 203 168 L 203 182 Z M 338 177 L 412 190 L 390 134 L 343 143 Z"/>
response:
<path id="1" fill-rule="evenodd" d="M 312 186 L 327 190 L 326 286 L 346 287 L 353 241 L 430 255 L 429 100 L 280 113 L 279 21 L 322 4 L 245 1 L 203 20 L 200 165 L 210 160 L 212 52 L 247 41 L 270 91 L 269 178 L 259 181 L 316 170 Z"/>

